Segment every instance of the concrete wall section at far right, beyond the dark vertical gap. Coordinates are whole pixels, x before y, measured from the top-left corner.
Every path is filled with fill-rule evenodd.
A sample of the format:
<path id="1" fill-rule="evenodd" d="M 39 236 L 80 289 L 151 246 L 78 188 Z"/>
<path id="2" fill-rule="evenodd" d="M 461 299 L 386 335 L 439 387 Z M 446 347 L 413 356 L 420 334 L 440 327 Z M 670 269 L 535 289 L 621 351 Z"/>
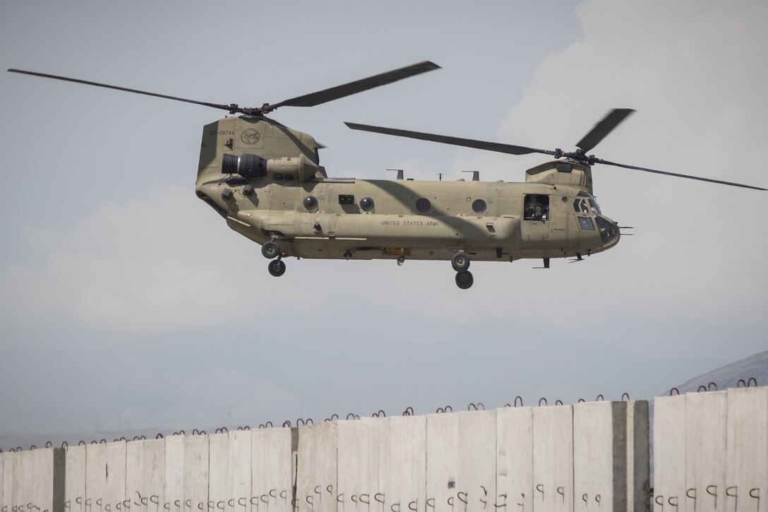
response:
<path id="1" fill-rule="evenodd" d="M 657 397 L 654 510 L 768 512 L 768 387 Z"/>

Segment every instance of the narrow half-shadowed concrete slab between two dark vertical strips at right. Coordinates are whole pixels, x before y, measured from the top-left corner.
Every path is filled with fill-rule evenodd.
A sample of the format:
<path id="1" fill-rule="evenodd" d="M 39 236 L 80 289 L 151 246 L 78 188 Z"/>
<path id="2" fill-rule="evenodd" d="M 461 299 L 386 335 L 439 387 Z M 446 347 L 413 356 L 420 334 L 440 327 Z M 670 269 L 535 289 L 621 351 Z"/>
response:
<path id="1" fill-rule="evenodd" d="M 627 510 L 650 509 L 650 425 L 648 402 L 631 400 L 627 404 Z"/>

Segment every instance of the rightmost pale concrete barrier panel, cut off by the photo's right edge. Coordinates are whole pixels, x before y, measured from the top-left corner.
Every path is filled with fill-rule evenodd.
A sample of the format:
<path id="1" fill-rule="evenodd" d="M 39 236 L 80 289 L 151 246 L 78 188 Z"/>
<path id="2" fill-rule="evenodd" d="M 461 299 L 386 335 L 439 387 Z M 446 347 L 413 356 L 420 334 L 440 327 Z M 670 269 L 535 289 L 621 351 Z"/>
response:
<path id="1" fill-rule="evenodd" d="M 727 391 L 726 510 L 768 511 L 768 387 Z"/>

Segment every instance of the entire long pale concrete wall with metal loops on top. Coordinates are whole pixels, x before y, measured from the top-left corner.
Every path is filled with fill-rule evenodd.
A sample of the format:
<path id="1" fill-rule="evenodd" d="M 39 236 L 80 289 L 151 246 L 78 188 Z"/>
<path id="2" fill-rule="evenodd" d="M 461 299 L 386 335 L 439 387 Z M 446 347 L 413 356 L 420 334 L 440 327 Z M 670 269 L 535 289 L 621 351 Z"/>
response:
<path id="1" fill-rule="evenodd" d="M 654 510 L 768 512 L 768 388 L 655 407 Z M 505 407 L 5 452 L 0 512 L 647 510 L 647 413 Z"/>

